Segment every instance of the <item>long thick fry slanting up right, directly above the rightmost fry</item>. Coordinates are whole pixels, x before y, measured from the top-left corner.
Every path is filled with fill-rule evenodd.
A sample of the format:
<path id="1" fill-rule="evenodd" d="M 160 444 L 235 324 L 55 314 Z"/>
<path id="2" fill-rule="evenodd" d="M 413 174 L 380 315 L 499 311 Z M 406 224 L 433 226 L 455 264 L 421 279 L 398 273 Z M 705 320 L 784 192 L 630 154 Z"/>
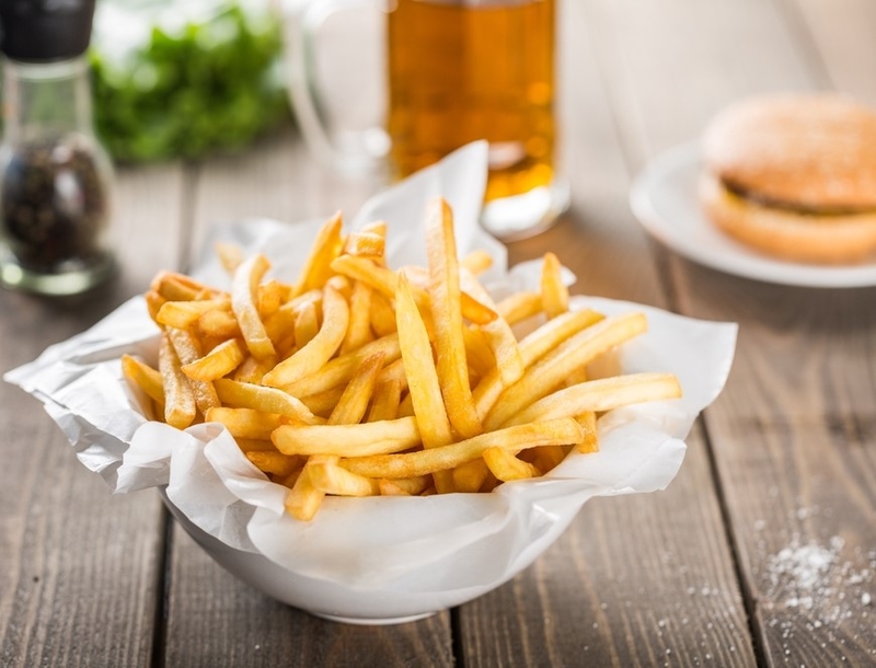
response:
<path id="1" fill-rule="evenodd" d="M 526 406 L 555 390 L 569 369 L 586 365 L 597 355 L 646 329 L 645 315 L 635 312 L 607 318 L 574 334 L 529 367 L 520 380 L 502 391 L 484 418 L 484 428 L 495 429 L 505 424 Z"/>

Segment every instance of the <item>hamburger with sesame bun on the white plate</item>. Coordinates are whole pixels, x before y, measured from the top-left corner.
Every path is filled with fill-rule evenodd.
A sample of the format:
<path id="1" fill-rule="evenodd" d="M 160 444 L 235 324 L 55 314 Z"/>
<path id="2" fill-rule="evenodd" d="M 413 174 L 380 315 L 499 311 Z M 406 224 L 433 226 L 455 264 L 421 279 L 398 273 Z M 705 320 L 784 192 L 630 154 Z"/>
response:
<path id="1" fill-rule="evenodd" d="M 876 112 L 830 93 L 745 100 L 703 137 L 707 218 L 772 257 L 876 258 Z"/>

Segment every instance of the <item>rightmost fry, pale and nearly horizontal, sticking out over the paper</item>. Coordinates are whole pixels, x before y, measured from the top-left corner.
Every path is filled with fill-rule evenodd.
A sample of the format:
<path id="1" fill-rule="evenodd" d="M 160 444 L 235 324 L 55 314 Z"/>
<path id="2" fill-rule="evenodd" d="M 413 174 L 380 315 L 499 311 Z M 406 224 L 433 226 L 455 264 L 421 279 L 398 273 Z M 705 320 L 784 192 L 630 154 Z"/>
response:
<path id="1" fill-rule="evenodd" d="M 629 373 L 588 380 L 548 394 L 511 415 L 505 425 L 601 413 L 648 401 L 678 399 L 681 385 L 672 373 Z"/>

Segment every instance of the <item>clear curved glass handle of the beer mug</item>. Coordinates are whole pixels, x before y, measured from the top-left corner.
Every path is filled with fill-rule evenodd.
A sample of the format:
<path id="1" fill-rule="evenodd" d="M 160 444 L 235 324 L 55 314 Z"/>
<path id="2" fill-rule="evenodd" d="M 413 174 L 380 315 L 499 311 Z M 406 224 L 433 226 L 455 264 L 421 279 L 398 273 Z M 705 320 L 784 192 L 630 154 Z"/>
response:
<path id="1" fill-rule="evenodd" d="M 333 137 L 323 102 L 325 96 L 315 76 L 316 34 L 333 14 L 385 5 L 385 0 L 291 0 L 286 4 L 286 67 L 290 102 L 301 135 L 319 162 L 348 177 L 378 172 L 389 152 L 389 137 L 380 127 L 349 130 Z"/>

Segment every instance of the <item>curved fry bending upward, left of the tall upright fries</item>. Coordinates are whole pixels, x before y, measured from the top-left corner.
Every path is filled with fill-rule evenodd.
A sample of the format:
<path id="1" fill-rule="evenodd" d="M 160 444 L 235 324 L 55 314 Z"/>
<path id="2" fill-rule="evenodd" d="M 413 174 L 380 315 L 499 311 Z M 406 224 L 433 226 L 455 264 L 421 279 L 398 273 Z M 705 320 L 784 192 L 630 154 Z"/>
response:
<path id="1" fill-rule="evenodd" d="M 315 372 L 332 358 L 347 332 L 349 307 L 337 290 L 325 286 L 322 311 L 323 322 L 316 335 L 265 373 L 262 382 L 275 388 L 288 385 Z"/>

